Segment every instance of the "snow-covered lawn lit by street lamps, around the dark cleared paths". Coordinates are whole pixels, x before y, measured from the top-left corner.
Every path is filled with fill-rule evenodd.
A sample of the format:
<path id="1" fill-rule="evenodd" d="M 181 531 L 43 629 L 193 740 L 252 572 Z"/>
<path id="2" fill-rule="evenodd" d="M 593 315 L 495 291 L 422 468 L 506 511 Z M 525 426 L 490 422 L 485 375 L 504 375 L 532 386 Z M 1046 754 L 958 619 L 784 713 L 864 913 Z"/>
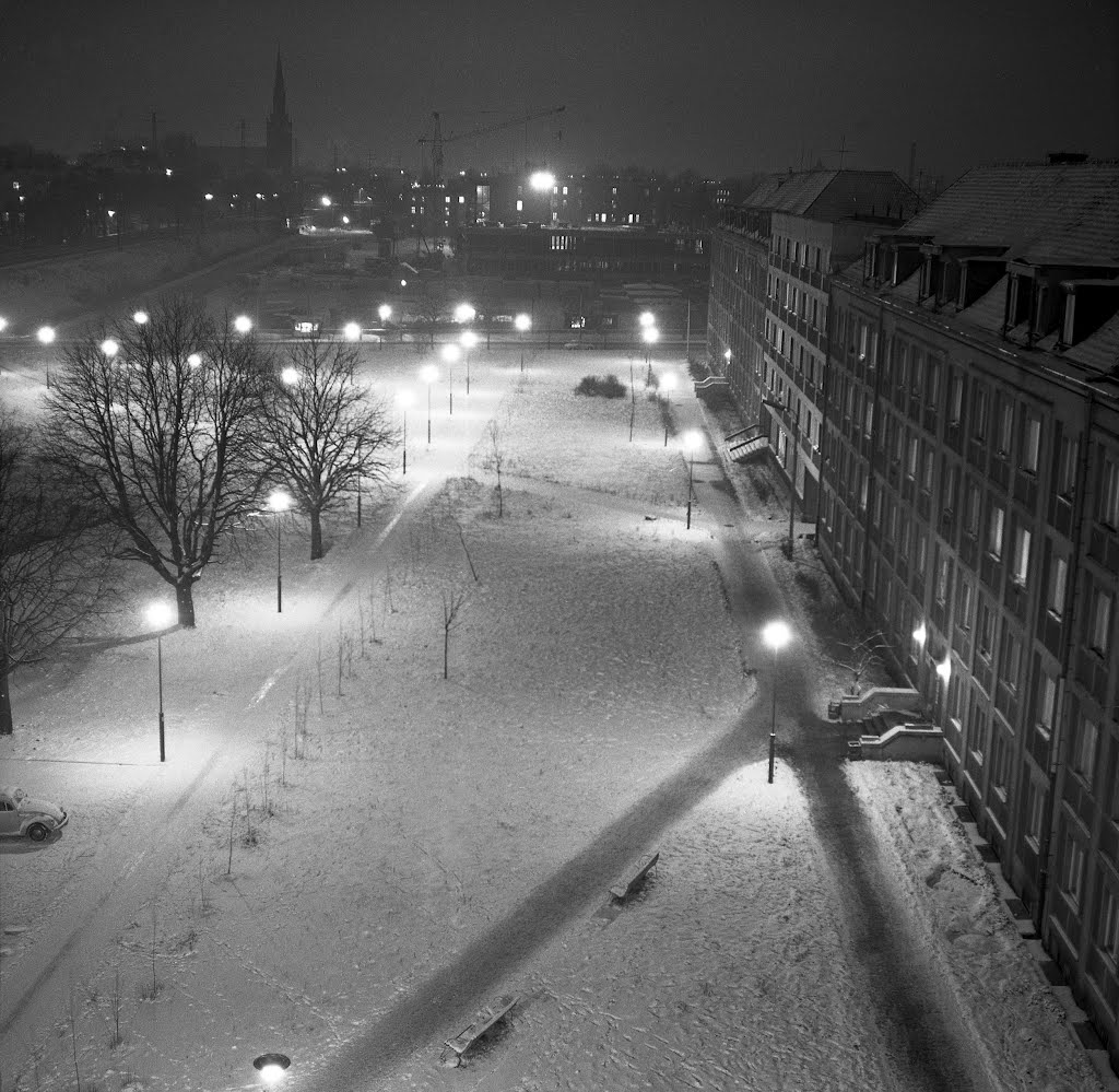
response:
<path id="1" fill-rule="evenodd" d="M 367 354 L 386 396 L 419 363 Z M 678 363 L 656 367 L 687 390 Z M 275 539 L 246 528 L 199 585 L 198 629 L 162 638 L 164 768 L 156 649 L 133 640 L 160 591 L 143 572 L 103 644 L 17 679 L 0 781 L 73 819 L 41 849 L 0 848 L 4 1019 L 36 944 L 68 935 L 67 905 L 102 887 L 104 903 L 44 987 L 54 1019 L 4 1043 L 3 1089 L 76 1088 L 76 1072 L 86 1090 L 250 1088 L 264 1051 L 291 1056 L 289 1086 L 322 1088 L 339 1052 L 474 945 L 500 949 L 493 930 L 603 844 L 619 860 L 656 848 L 656 874 L 619 907 L 573 872 L 574 911 L 495 983 L 520 1002 L 462 1067 L 441 1048 L 477 1006 L 335 1086 L 897 1086 L 788 768 L 768 785 L 744 763 L 655 846 L 619 841 L 658 785 L 767 710 L 713 565 L 737 531 L 703 511 L 685 529 L 688 467 L 643 392 L 632 440 L 628 401 L 573 394 L 608 370 L 629 378 L 598 354 L 537 352 L 525 371 L 479 355 L 453 418 L 438 388 L 430 448 L 417 401 L 407 479 L 375 515 L 367 500 L 360 530 L 333 523 L 311 565 L 285 528 L 281 615 Z M 690 395 L 673 407 L 674 432 L 699 423 Z M 758 537 L 779 536 L 769 515 Z M 817 662 L 826 702 L 837 675 Z M 977 1072 L 1007 1090 L 1099 1088 L 933 771 L 848 776 L 976 1028 Z M 166 828 L 138 831 L 149 815 Z"/>

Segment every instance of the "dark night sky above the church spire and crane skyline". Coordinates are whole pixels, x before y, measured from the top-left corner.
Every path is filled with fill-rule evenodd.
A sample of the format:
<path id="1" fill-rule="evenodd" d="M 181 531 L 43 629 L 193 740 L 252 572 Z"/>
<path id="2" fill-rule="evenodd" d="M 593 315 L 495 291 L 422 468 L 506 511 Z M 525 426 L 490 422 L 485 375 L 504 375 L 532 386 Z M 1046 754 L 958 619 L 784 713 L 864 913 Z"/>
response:
<path id="1" fill-rule="evenodd" d="M 0 0 L 0 143 L 74 153 L 188 131 L 263 143 L 276 48 L 300 159 L 415 168 L 444 136 L 553 105 L 529 157 L 709 176 L 811 166 L 904 175 L 1119 157 L 1116 0 Z M 513 166 L 525 130 L 446 144 Z"/>

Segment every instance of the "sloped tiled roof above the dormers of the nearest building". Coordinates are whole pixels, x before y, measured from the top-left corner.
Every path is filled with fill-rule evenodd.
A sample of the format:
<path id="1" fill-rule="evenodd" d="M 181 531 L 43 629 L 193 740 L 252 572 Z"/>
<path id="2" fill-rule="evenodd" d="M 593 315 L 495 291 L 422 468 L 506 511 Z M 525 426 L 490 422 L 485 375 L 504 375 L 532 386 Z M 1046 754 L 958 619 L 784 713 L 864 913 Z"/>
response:
<path id="1" fill-rule="evenodd" d="M 1119 162 L 975 167 L 897 235 L 1005 245 L 1008 261 L 1119 265 Z"/>

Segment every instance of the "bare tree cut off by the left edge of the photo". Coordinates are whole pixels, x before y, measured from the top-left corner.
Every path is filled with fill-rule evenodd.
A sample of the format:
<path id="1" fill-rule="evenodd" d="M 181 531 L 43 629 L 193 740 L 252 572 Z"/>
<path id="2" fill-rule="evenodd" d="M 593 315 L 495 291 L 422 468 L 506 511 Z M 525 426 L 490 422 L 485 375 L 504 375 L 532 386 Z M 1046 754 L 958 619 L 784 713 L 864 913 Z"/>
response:
<path id="1" fill-rule="evenodd" d="M 0 407 L 0 735 L 13 728 L 12 671 L 107 606 L 105 545 L 45 472 L 31 429 Z"/>

